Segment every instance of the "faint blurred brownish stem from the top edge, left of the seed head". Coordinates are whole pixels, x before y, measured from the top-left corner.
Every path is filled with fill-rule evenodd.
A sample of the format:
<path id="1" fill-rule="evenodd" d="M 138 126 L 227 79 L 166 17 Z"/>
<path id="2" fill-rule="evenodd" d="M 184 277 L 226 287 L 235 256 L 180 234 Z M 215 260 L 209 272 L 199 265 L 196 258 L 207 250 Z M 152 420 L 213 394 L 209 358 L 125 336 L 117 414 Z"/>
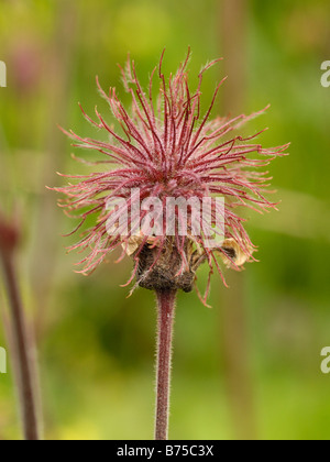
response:
<path id="1" fill-rule="evenodd" d="M 47 55 L 44 74 L 45 117 L 47 130 L 44 139 L 43 178 L 40 184 L 40 202 L 34 237 L 32 285 L 36 302 L 36 336 L 44 333 L 44 321 L 48 306 L 50 292 L 53 286 L 56 241 L 58 237 L 58 216 L 53 197 L 46 186 L 53 186 L 54 172 L 62 172 L 63 153 L 66 151 L 66 140 L 57 124 L 65 125 L 68 118 L 70 80 L 75 63 L 75 45 L 77 29 L 76 2 L 58 1 L 56 6 L 56 26 L 52 47 Z"/>

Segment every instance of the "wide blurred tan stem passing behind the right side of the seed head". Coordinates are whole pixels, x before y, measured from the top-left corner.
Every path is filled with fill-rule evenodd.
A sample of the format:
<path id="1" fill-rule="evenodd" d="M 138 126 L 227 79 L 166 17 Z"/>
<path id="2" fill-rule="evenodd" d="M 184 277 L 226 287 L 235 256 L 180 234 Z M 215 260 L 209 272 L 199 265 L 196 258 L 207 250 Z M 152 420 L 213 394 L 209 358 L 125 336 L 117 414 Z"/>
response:
<path id="1" fill-rule="evenodd" d="M 246 0 L 221 0 L 219 30 L 224 57 L 224 74 L 229 77 L 223 91 L 224 114 L 244 111 L 246 81 Z M 244 277 L 230 271 L 226 275 L 229 288 L 221 287 L 221 334 L 226 382 L 238 439 L 256 439 L 252 374 L 249 358 L 249 334 Z"/>

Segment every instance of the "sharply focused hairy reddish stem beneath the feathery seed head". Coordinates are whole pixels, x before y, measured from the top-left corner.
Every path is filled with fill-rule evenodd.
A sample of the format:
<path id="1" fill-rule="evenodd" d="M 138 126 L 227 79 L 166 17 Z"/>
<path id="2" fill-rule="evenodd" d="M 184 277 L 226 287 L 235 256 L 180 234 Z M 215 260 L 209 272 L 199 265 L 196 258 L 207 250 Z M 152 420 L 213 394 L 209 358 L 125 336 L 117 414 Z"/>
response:
<path id="1" fill-rule="evenodd" d="M 168 438 L 172 339 L 176 290 L 160 290 L 157 295 L 157 385 L 155 440 Z"/>

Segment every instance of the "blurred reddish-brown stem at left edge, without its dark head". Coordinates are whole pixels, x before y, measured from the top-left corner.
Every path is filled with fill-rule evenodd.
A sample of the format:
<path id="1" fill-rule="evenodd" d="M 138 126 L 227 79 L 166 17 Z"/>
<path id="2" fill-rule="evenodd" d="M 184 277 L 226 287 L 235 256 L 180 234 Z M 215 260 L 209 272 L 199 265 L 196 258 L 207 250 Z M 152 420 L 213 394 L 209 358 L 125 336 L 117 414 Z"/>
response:
<path id="1" fill-rule="evenodd" d="M 8 292 L 11 315 L 11 341 L 14 353 L 14 369 L 20 395 L 23 432 L 25 440 L 38 440 L 36 397 L 33 382 L 31 344 L 24 311 L 16 283 L 13 256 L 10 252 L 2 255 L 4 283 Z"/>

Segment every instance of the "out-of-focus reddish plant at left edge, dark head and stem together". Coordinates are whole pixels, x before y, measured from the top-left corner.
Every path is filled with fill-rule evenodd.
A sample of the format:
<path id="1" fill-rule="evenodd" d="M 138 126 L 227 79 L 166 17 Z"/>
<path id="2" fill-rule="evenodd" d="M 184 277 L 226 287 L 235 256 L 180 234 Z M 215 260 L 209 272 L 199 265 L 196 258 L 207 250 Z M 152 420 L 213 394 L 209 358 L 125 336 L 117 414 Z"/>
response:
<path id="1" fill-rule="evenodd" d="M 13 223 L 6 223 L 0 215 L 0 260 L 10 306 L 10 320 L 6 319 L 4 322 L 6 333 L 12 353 L 24 438 L 38 440 L 36 369 L 32 336 L 25 319 L 18 283 L 15 267 L 18 245 L 19 231 Z"/>

